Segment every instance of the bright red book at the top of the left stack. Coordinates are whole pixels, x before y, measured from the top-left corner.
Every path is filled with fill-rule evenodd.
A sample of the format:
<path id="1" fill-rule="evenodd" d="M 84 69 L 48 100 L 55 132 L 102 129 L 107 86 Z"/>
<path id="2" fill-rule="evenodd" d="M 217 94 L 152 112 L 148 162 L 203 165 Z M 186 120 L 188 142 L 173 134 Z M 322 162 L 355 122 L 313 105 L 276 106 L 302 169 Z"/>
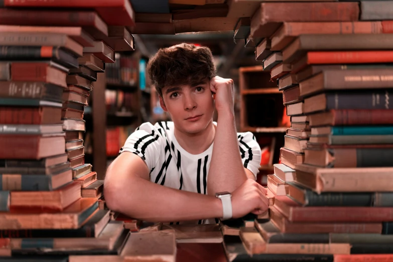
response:
<path id="1" fill-rule="evenodd" d="M 129 0 L 4 0 L 4 7 L 94 9 L 110 26 L 134 26 L 135 13 Z"/>

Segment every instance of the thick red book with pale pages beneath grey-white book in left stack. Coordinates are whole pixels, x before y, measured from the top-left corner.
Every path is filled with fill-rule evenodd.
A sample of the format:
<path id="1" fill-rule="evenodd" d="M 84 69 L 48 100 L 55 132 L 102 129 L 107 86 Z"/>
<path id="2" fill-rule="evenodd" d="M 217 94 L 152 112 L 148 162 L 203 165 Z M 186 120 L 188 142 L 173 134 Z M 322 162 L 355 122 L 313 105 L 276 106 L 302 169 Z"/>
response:
<path id="1" fill-rule="evenodd" d="M 65 153 L 64 133 L 50 135 L 0 135 L 0 158 L 41 159 Z"/>

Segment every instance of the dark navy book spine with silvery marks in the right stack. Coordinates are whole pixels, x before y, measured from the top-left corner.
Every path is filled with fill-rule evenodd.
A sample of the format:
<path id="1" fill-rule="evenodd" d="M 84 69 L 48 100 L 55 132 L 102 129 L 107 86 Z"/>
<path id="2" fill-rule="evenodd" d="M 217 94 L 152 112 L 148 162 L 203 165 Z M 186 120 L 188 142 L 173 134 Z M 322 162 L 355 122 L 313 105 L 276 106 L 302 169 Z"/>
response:
<path id="1" fill-rule="evenodd" d="M 390 109 L 387 90 L 326 94 L 326 109 Z"/>

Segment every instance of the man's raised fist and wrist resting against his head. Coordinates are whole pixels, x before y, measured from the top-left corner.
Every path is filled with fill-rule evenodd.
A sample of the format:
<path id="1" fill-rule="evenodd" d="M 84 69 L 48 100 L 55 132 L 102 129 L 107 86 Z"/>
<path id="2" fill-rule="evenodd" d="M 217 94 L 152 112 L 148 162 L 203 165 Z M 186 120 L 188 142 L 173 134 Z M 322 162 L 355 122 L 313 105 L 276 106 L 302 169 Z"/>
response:
<path id="1" fill-rule="evenodd" d="M 216 76 L 210 80 L 210 90 L 215 93 L 217 112 L 234 112 L 233 80 Z"/>

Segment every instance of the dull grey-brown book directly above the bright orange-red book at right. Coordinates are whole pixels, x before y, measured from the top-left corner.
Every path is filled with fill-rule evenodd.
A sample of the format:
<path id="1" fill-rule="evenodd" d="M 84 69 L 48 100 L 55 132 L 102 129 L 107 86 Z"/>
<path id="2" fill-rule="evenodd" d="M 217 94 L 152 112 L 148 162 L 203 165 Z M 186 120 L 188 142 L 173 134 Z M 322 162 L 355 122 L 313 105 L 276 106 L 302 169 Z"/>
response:
<path id="1" fill-rule="evenodd" d="M 307 51 L 388 50 L 392 40 L 390 34 L 300 35 L 283 50 L 283 61 L 291 63 Z"/>

